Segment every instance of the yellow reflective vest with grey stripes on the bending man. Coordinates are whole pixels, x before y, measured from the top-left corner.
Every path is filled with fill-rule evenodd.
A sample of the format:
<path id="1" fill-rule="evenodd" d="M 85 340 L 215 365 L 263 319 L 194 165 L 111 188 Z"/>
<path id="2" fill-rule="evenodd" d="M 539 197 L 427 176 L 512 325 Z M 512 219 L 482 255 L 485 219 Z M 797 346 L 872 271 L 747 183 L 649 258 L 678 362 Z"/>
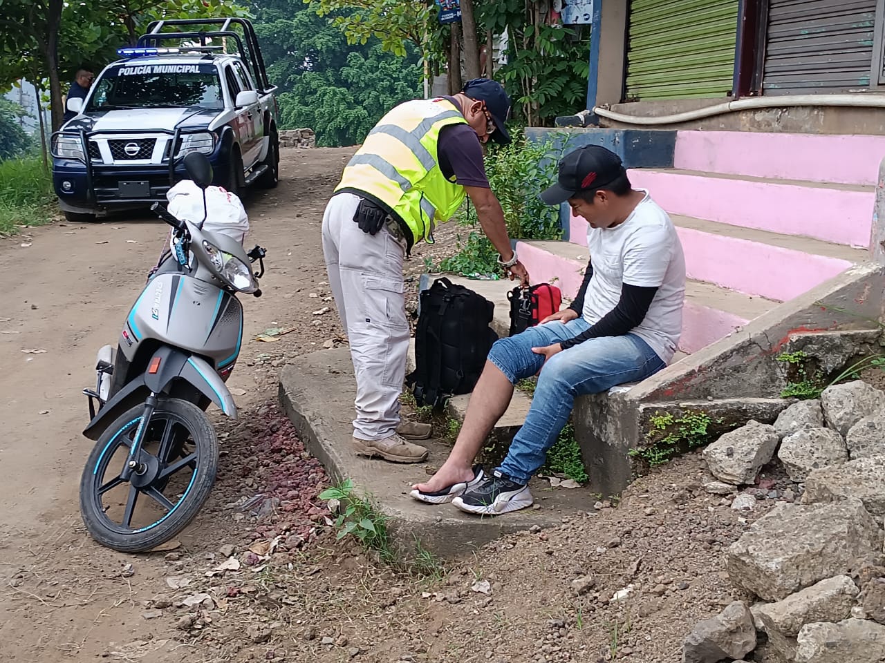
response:
<path id="1" fill-rule="evenodd" d="M 335 192 L 364 191 L 403 219 L 414 241 L 432 240 L 465 199 L 464 187 L 446 179 L 436 156 L 444 126 L 466 124 L 446 99 L 401 103 L 388 112 L 344 168 Z"/>

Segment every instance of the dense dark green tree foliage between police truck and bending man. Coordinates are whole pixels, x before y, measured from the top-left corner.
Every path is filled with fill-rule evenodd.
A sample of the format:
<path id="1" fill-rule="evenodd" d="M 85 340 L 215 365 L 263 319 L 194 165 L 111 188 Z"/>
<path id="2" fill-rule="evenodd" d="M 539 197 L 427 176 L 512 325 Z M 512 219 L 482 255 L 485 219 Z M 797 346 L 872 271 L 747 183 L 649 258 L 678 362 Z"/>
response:
<path id="1" fill-rule="evenodd" d="M 254 11 L 268 76 L 280 86 L 281 128 L 309 126 L 324 147 L 355 145 L 390 108 L 421 96 L 411 43 L 404 57 L 371 35 L 349 46 L 335 15 L 300 0 L 266 0 Z"/>

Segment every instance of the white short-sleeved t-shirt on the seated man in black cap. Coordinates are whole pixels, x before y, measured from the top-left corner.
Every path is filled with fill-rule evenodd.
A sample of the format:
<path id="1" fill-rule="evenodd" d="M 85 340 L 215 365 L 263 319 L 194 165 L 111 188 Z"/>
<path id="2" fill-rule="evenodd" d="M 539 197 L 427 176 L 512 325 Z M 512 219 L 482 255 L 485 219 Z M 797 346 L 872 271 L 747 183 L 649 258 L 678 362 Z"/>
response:
<path id="1" fill-rule="evenodd" d="M 624 283 L 658 287 L 645 319 L 631 333 L 669 362 L 682 331 L 685 256 L 673 221 L 647 191 L 643 193 L 643 201 L 624 223 L 587 230 L 593 278 L 584 295 L 583 316 L 589 324 L 599 322 L 617 306 Z"/>

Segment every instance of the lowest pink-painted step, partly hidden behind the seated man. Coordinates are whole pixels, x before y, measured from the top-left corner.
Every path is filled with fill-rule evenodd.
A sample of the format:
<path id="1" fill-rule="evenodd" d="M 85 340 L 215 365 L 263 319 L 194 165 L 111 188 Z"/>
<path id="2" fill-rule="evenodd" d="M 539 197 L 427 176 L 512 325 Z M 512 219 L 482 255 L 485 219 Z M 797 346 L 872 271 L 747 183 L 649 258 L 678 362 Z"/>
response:
<path id="1" fill-rule="evenodd" d="M 588 260 L 586 248 L 581 250 L 581 247 L 563 241 L 519 241 L 516 250 L 533 283 L 553 283 L 568 298 L 578 292 Z M 776 304 L 709 283 L 689 281 L 682 309 L 679 349 L 689 354 L 696 352 Z"/>

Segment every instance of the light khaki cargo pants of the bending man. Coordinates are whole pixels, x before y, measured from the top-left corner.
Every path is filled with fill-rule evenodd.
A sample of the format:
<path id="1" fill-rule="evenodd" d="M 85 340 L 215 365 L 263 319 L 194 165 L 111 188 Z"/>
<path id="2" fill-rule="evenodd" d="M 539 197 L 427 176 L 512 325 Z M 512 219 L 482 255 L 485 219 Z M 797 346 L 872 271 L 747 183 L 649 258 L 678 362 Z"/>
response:
<path id="1" fill-rule="evenodd" d="M 323 214 L 323 255 L 329 286 L 357 376 L 354 437 L 384 439 L 399 425 L 409 324 L 405 317 L 405 245 L 388 229 L 375 235 L 353 220 L 360 198 L 335 194 Z"/>

